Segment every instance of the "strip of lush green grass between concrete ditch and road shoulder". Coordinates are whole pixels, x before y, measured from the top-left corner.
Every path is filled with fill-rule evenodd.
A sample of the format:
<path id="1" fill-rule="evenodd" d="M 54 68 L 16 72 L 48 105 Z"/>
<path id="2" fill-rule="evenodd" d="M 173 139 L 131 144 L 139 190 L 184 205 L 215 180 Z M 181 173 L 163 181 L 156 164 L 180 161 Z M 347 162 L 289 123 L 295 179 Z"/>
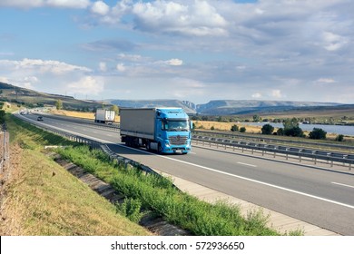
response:
<path id="1" fill-rule="evenodd" d="M 278 235 L 266 227 L 268 218 L 262 215 L 261 210 L 250 212 L 247 218 L 243 218 L 238 206 L 225 202 L 212 205 L 198 200 L 176 190 L 167 179 L 118 166 L 103 151 L 76 147 L 59 153 L 109 182 L 127 197 L 140 200 L 144 209 L 153 210 L 195 235 Z"/>

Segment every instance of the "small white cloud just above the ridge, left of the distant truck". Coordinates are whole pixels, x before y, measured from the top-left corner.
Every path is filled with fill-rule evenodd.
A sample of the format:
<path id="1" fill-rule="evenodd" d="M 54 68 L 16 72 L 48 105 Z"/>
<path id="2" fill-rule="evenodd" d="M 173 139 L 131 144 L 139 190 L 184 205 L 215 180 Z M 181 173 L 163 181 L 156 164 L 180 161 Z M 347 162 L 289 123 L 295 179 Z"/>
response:
<path id="1" fill-rule="evenodd" d="M 97 95 L 103 92 L 104 82 L 101 78 L 84 76 L 77 82 L 67 84 L 66 87 L 71 93 Z"/>

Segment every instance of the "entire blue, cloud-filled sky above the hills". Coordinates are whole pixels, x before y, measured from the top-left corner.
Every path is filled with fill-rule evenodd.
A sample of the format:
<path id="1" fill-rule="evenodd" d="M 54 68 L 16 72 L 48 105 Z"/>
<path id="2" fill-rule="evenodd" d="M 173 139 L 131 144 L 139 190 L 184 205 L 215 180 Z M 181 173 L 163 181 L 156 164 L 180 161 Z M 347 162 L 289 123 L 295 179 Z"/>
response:
<path id="1" fill-rule="evenodd" d="M 77 99 L 354 103 L 352 0 L 0 0 L 0 82 Z"/>

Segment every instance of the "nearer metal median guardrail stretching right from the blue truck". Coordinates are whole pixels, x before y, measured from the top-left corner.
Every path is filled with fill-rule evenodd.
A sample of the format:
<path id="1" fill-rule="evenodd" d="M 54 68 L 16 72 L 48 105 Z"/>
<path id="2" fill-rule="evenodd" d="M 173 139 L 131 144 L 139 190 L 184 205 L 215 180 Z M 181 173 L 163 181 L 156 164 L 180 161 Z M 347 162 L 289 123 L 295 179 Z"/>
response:
<path id="1" fill-rule="evenodd" d="M 227 149 L 230 147 L 233 151 L 235 149 L 241 149 L 243 152 L 245 149 L 250 150 L 252 153 L 254 151 L 261 151 L 262 155 L 266 152 L 270 152 L 275 157 L 277 154 L 284 154 L 286 159 L 289 159 L 289 156 L 296 156 L 301 161 L 302 158 L 310 158 L 316 164 L 318 160 L 328 161 L 330 166 L 333 167 L 333 162 L 340 162 L 343 164 L 348 164 L 349 171 L 354 164 L 354 154 L 352 153 L 341 153 L 341 152 L 333 152 L 333 151 L 317 151 L 311 149 L 301 149 L 296 147 L 288 147 L 274 144 L 266 144 L 266 143 L 257 143 L 257 142 L 244 142 L 244 141 L 236 141 L 236 140 L 227 140 L 221 138 L 212 138 L 205 136 L 192 136 L 192 142 L 196 144 L 205 143 L 209 144 L 209 146 L 214 145 L 217 148 L 224 147 Z"/>

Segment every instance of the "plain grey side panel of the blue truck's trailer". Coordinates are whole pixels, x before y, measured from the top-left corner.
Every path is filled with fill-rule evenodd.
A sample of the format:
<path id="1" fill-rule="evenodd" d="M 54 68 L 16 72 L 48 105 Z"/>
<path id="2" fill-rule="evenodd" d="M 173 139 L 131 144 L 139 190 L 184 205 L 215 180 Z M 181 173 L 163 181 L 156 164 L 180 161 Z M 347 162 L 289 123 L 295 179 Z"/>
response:
<path id="1" fill-rule="evenodd" d="M 120 109 L 121 135 L 154 139 L 155 109 Z"/>

